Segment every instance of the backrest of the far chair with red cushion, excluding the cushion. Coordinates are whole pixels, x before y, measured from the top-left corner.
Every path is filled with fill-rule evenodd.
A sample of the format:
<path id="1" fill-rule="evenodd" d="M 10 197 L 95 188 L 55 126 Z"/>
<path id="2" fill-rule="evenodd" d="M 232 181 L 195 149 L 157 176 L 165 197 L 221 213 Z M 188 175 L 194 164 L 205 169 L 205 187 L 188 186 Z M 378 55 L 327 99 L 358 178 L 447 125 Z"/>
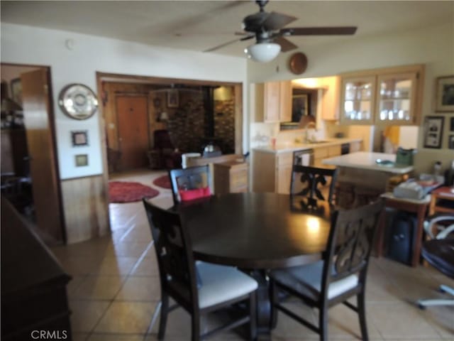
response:
<path id="1" fill-rule="evenodd" d="M 209 166 L 195 166 L 188 168 L 177 168 L 169 170 L 170 185 L 172 185 L 173 202 L 176 205 L 178 202 L 184 201 L 180 191 L 196 190 L 208 188 L 211 183 L 211 172 Z M 205 191 L 205 194 L 208 191 Z M 201 193 L 200 196 L 204 196 Z M 211 193 L 209 193 L 211 194 Z"/>

